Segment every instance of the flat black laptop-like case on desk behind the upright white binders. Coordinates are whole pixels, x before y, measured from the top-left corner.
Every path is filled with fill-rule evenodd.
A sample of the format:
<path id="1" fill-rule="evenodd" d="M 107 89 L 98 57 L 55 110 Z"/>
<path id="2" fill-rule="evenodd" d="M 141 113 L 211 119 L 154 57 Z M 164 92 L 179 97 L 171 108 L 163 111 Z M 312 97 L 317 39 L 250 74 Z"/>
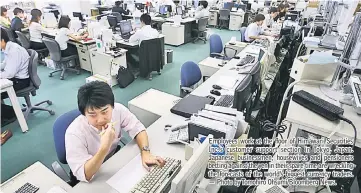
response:
<path id="1" fill-rule="evenodd" d="M 212 100 L 209 98 L 190 94 L 174 105 L 170 111 L 176 115 L 189 118 L 193 113 L 198 112 L 198 110 L 204 108 L 206 104 L 210 104 L 211 102 Z"/>

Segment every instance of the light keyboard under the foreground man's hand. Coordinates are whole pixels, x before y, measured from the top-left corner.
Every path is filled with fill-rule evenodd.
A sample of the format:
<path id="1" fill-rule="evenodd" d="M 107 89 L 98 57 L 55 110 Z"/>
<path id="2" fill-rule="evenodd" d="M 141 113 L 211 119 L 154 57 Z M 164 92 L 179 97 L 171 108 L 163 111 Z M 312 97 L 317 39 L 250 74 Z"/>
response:
<path id="1" fill-rule="evenodd" d="M 138 182 L 131 193 L 155 193 L 163 192 L 170 186 L 173 178 L 181 169 L 181 161 L 165 158 L 165 165 L 163 167 L 154 167 Z"/>

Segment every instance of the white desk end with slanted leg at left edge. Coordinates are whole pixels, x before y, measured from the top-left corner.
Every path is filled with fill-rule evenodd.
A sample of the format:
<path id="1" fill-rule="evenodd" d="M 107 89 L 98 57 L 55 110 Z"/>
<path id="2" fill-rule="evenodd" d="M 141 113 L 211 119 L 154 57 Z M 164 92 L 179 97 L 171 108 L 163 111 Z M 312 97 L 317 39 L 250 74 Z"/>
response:
<path id="1" fill-rule="evenodd" d="M 13 82 L 8 79 L 0 79 L 1 85 L 1 93 L 7 92 L 10 102 L 14 108 L 16 118 L 19 121 L 20 128 L 23 132 L 27 132 L 29 130 L 26 120 L 24 118 L 24 114 L 21 111 L 18 98 L 16 96 L 15 90 L 13 88 Z"/>

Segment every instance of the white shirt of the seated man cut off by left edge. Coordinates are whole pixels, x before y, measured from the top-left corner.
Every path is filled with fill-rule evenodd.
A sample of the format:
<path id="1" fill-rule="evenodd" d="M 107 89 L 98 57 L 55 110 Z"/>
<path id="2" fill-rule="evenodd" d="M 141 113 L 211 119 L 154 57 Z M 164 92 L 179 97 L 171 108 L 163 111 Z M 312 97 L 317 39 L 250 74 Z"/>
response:
<path id="1" fill-rule="evenodd" d="M 29 78 L 29 53 L 19 44 L 8 41 L 4 50 L 0 78 Z"/>

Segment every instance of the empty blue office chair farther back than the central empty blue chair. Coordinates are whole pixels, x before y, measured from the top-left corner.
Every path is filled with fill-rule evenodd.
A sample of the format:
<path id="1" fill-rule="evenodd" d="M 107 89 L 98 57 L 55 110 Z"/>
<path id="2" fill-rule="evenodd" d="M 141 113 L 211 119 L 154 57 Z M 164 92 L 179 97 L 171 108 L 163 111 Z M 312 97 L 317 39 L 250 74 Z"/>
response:
<path id="1" fill-rule="evenodd" d="M 212 34 L 209 38 L 209 48 L 210 48 L 210 57 L 212 58 L 220 58 L 223 60 L 230 60 L 233 56 L 237 54 L 237 50 L 230 48 L 230 47 L 224 47 L 223 48 L 223 42 L 221 37 L 218 34 Z M 227 53 L 229 51 L 232 51 L 234 53 L 233 56 L 227 56 Z M 222 52 L 224 54 L 222 54 Z"/>

